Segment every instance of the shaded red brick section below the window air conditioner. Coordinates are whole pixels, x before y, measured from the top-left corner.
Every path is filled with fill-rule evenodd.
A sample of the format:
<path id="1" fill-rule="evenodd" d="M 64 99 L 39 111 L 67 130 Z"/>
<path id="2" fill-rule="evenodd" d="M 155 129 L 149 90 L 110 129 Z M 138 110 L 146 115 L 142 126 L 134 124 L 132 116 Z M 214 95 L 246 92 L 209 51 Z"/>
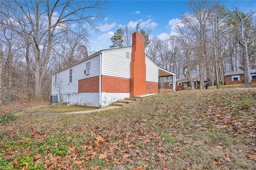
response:
<path id="1" fill-rule="evenodd" d="M 99 92 L 99 76 L 78 80 L 78 93 Z"/>

